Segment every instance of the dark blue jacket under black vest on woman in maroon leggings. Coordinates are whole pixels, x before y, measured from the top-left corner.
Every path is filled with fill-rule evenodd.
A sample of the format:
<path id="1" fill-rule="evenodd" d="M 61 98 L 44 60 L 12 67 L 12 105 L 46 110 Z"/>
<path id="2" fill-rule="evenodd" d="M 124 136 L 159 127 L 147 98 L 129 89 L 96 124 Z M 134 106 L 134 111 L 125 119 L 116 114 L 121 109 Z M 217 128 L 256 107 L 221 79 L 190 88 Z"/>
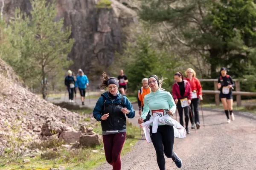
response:
<path id="1" fill-rule="evenodd" d="M 120 103 L 120 99 L 121 99 L 121 94 L 120 93 L 119 93 L 118 97 L 115 100 L 113 100 L 113 102 L 112 102 L 112 100 L 108 96 L 108 91 L 106 91 L 102 95 L 105 96 L 105 98 L 106 98 L 106 104 L 107 103 L 110 103 L 110 104 L 112 104 L 112 103 Z M 127 114 L 126 116 L 128 118 L 130 118 L 130 119 L 134 118 L 134 116 L 135 116 L 134 108 L 132 107 L 131 102 L 129 101 L 129 99 L 127 99 L 126 96 L 123 96 L 123 102 L 124 102 L 124 105 L 126 106 L 126 108 L 130 111 L 130 113 Z M 100 118 L 103 115 L 102 114 L 103 113 L 103 108 L 104 108 L 103 105 L 104 105 L 104 98 L 102 96 L 100 96 L 100 98 L 98 99 L 98 101 L 97 101 L 97 103 L 95 105 L 95 108 L 93 109 L 93 117 L 97 121 L 100 121 L 101 120 Z"/>

